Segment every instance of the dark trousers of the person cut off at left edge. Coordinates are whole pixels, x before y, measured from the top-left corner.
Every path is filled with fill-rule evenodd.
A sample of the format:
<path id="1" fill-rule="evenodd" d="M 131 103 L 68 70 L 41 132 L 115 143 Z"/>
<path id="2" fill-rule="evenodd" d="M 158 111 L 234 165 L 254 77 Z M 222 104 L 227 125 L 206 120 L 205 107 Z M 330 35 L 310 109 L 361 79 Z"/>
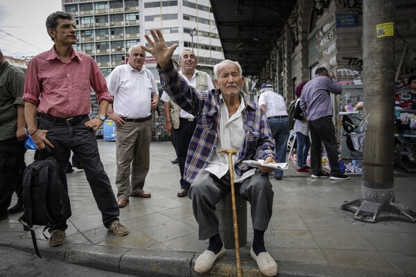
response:
<path id="1" fill-rule="evenodd" d="M 0 216 L 7 214 L 15 190 L 21 197 L 25 152 L 24 141 L 16 137 L 0 141 Z"/>

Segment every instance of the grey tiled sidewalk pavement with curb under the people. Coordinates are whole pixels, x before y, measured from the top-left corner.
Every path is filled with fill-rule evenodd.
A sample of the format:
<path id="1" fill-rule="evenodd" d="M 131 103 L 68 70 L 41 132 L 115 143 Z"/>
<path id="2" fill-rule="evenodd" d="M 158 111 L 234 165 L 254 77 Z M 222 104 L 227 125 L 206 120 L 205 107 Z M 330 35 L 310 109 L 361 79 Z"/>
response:
<path id="1" fill-rule="evenodd" d="M 98 145 L 116 195 L 115 143 L 98 141 Z M 133 276 L 236 276 L 234 249 L 228 249 L 207 274 L 193 271 L 207 242 L 198 240 L 190 199 L 176 196 L 180 174 L 171 163 L 175 159 L 171 143 L 153 142 L 150 148 L 145 190 L 152 197 L 130 197 L 121 208 L 120 219 L 130 229 L 128 235 L 117 238 L 105 229 L 84 172 L 76 171 L 67 175 L 72 207 L 67 241 L 49 247 L 43 226 L 38 227 L 41 255 Z M 33 151 L 28 151 L 26 161 L 32 160 Z M 415 177 L 395 172 L 396 199 L 413 211 Z M 270 181 L 275 198 L 265 241 L 277 261 L 277 276 L 416 276 L 416 224 L 364 223 L 340 209 L 343 202 L 360 197 L 361 175 L 347 181 L 311 179 L 291 166 L 282 181 Z M 15 202 L 13 198 L 12 205 Z M 0 246 L 35 255 L 30 233 L 18 222 L 20 215 L 1 220 Z M 248 217 L 248 244 L 240 249 L 243 276 L 263 276 L 250 258 L 250 212 Z"/>

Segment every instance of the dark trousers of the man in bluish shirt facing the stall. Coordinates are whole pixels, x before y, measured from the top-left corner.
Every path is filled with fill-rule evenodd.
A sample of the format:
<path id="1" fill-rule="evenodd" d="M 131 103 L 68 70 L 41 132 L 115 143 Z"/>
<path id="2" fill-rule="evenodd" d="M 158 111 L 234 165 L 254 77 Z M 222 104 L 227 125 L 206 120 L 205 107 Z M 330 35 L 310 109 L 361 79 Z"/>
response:
<path id="1" fill-rule="evenodd" d="M 333 127 L 332 116 L 325 116 L 317 120 L 308 121 L 311 133 L 311 170 L 312 174 L 319 174 L 322 170 L 322 142 L 327 150 L 331 176 L 340 175 L 338 164 L 338 143 Z"/>

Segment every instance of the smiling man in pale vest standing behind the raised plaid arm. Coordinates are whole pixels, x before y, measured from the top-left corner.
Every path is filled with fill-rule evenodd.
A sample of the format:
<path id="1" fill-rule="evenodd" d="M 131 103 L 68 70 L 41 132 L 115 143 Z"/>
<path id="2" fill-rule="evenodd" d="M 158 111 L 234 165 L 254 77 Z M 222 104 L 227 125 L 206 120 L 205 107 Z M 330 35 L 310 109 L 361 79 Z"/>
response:
<path id="1" fill-rule="evenodd" d="M 179 73 L 184 76 L 184 79 L 187 80 L 188 84 L 192 87 L 195 87 L 198 91 L 215 89 L 209 75 L 205 72 L 196 70 L 198 62 L 193 51 L 189 49 L 182 51 L 179 64 L 181 67 Z M 177 161 L 179 161 L 181 190 L 177 193 L 177 196 L 184 197 L 188 195 L 188 190 L 191 186 L 188 181 L 184 180 L 184 168 L 187 159 L 188 145 L 196 127 L 196 118 L 177 106 L 165 91 L 162 93 L 160 99 L 164 101 L 166 130 L 170 134 L 173 134 Z"/>

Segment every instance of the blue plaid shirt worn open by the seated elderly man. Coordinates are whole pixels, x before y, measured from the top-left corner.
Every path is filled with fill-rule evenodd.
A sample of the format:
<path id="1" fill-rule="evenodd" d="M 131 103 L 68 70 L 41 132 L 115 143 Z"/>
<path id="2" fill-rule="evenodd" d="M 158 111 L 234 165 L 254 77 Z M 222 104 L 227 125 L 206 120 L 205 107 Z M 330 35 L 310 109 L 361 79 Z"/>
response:
<path id="1" fill-rule="evenodd" d="M 197 91 L 189 86 L 182 76 L 177 73 L 173 63 L 166 69 L 160 69 L 162 88 L 171 99 L 184 111 L 198 118 L 198 124 L 189 143 L 184 177 L 192 183 L 200 170 L 207 166 L 215 150 L 218 137 L 218 121 L 220 118 L 220 98 L 218 89 L 211 91 Z M 234 162 L 236 174 L 241 176 L 251 168 L 242 163 L 248 159 L 266 159 L 268 156 L 277 160 L 275 143 L 272 139 L 266 114 L 255 102 L 241 91 L 245 102 L 243 122 L 245 139 L 238 151 L 238 159 Z"/>

